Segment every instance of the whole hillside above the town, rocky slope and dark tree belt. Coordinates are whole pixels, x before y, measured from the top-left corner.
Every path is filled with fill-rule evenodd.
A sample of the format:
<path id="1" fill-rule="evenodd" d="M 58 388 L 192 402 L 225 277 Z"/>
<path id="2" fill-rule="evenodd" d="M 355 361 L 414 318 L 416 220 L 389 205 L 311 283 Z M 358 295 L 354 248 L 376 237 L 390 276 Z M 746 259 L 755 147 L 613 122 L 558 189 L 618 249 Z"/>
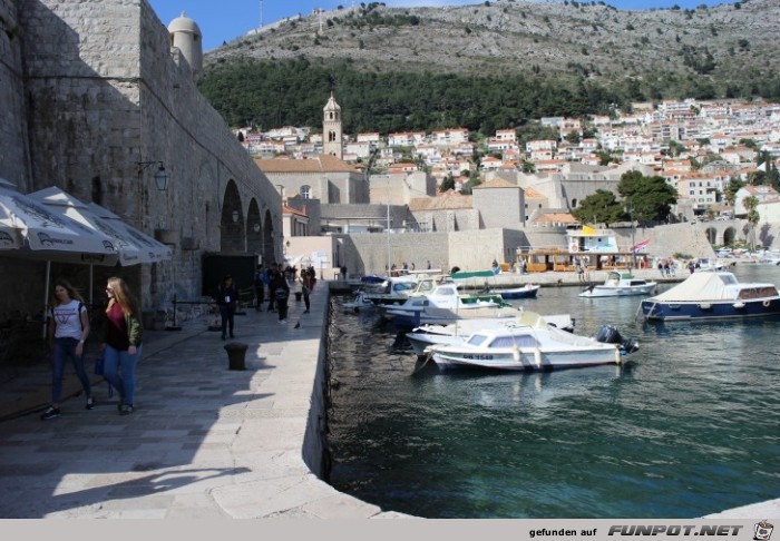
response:
<path id="1" fill-rule="evenodd" d="M 201 87 L 228 122 L 266 126 L 312 115 L 309 124 L 319 125 L 323 94 L 334 89 L 348 130 L 380 130 L 371 127 L 374 115 L 387 129 L 415 129 L 436 120 L 433 111 L 445 111 L 438 124 L 465 120 L 482 129 L 485 115 L 506 107 L 508 97 L 520 104 L 489 124 L 608 112 L 632 100 L 779 98 L 778 20 L 777 0 L 651 11 L 576 1 L 370 3 L 281 21 L 225 43 L 205 55 Z M 496 85 L 507 88 L 498 92 Z M 497 94 L 490 106 L 481 104 L 477 87 Z M 423 96 L 423 118 L 392 106 L 416 99 L 413 90 L 436 94 L 433 102 Z M 527 94 L 533 96 L 523 102 Z M 388 107 L 396 110 L 383 111 Z M 447 118 L 450 107 L 476 108 L 481 119 Z"/>

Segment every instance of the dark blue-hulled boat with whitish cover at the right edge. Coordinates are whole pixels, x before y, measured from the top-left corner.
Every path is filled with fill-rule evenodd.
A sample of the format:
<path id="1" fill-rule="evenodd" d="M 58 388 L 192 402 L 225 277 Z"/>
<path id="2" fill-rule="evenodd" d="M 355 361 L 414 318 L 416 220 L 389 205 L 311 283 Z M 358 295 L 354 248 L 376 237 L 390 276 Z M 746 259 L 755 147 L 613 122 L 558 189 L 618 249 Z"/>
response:
<path id="1" fill-rule="evenodd" d="M 774 284 L 740 283 L 733 273 L 693 273 L 654 297 L 640 303 L 645 321 L 723 319 L 780 315 Z"/>

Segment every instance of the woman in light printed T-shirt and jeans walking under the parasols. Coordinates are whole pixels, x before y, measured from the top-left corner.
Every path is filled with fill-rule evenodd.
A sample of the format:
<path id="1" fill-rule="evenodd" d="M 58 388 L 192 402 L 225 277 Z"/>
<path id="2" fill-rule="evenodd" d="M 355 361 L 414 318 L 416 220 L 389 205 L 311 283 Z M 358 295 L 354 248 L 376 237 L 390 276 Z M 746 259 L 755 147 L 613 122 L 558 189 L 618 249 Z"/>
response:
<path id="1" fill-rule="evenodd" d="M 70 358 L 76 375 L 87 396 L 87 410 L 95 407 L 89 377 L 84 368 L 84 347 L 89 336 L 89 316 L 84 298 L 68 281 L 55 283 L 53 299 L 48 315 L 48 338 L 51 355 L 51 405 L 40 419 L 47 421 L 60 415 L 59 401 L 62 393 L 65 364 Z"/>

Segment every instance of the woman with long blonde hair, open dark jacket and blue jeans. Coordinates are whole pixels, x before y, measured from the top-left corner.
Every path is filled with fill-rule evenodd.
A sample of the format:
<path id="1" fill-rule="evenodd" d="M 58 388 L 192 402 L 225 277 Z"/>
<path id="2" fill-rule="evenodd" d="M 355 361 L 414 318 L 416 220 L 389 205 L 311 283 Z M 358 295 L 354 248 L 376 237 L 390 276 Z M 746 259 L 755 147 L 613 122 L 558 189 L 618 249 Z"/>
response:
<path id="1" fill-rule="evenodd" d="M 119 413 L 128 415 L 135 411 L 136 366 L 143 334 L 140 307 L 125 281 L 116 276 L 108 278 L 106 295 L 104 376 L 119 392 Z"/>

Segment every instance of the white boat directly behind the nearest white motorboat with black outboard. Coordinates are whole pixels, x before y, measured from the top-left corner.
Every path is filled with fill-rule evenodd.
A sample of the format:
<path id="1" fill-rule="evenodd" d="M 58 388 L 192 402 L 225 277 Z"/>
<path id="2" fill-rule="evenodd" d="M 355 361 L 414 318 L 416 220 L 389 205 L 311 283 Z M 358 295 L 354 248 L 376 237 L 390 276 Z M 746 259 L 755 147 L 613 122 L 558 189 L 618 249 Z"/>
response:
<path id="1" fill-rule="evenodd" d="M 574 324 L 575 322 L 569 314 L 540 316 L 535 312 L 523 312 L 514 318 L 460 319 L 450 325 L 421 325 L 406 333 L 406 336 L 415 353 L 422 356 L 428 346 L 462 343 L 477 331 L 523 326 L 547 328 L 549 325 L 572 333 Z"/>

